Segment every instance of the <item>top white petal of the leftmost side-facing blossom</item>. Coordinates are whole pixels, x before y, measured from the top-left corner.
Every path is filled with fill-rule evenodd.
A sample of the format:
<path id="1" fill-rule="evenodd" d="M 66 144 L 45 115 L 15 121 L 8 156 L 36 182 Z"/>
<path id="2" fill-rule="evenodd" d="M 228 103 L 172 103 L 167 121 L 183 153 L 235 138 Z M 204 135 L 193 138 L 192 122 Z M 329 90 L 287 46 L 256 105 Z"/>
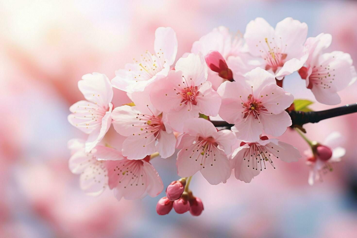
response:
<path id="1" fill-rule="evenodd" d="M 99 106 L 107 106 L 113 98 L 112 85 L 104 74 L 83 75 L 82 80 L 78 82 L 78 88 L 86 100 Z"/>

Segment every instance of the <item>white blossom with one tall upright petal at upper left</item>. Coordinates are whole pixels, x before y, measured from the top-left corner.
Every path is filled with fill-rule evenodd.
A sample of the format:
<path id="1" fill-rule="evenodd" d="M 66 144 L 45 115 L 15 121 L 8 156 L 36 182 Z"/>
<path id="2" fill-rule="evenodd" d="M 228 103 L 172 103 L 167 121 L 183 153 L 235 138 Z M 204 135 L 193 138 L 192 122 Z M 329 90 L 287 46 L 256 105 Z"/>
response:
<path id="1" fill-rule="evenodd" d="M 157 76 L 166 76 L 177 54 L 176 33 L 171 27 L 159 27 L 155 31 L 154 54 L 146 51 L 134 63 L 115 72 L 112 83 L 126 92 L 143 91 Z"/>

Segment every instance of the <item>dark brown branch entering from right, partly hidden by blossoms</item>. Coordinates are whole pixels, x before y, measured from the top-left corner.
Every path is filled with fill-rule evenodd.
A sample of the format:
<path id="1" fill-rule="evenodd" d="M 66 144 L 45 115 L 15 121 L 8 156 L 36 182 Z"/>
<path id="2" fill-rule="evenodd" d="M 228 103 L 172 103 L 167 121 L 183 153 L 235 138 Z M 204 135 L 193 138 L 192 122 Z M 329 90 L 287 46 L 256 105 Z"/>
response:
<path id="1" fill-rule="evenodd" d="M 325 120 L 331 117 L 342 116 L 357 112 L 357 103 L 353 103 L 348 106 L 336 107 L 329 110 L 317 111 L 317 112 L 302 112 L 302 111 L 288 111 L 292 126 L 302 129 L 302 126 L 306 123 L 316 123 L 321 120 Z M 232 124 L 229 124 L 225 121 L 211 121 L 216 127 L 232 127 Z M 303 130 L 303 129 L 302 129 Z M 305 130 L 303 130 L 305 132 Z"/>

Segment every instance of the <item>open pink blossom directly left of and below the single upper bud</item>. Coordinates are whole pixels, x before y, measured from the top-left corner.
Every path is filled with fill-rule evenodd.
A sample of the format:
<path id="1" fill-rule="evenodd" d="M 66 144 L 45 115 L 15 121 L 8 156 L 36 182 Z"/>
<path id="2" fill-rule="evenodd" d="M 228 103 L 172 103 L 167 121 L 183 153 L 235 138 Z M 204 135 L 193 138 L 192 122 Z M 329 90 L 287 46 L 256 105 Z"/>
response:
<path id="1" fill-rule="evenodd" d="M 150 99 L 160 111 L 167 112 L 172 128 L 182 132 L 185 120 L 198 112 L 217 116 L 221 97 L 207 80 L 207 65 L 201 53 L 180 58 L 166 77 L 152 86 Z"/>

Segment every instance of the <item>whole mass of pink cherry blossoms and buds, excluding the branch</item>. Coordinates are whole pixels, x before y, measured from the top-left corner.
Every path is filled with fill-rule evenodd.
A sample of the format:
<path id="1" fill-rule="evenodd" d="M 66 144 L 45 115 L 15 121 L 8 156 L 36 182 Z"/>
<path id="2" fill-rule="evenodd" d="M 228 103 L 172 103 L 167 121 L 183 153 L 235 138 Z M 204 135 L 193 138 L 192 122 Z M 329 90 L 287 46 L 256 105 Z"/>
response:
<path id="1" fill-rule="evenodd" d="M 78 88 L 85 100 L 74 103 L 68 116 L 87 134 L 68 142 L 69 168 L 80 174 L 80 187 L 91 195 L 109 187 L 118 200 L 156 197 L 164 184 L 150 159 L 177 153 L 181 179 L 167 187 L 157 213 L 174 207 L 198 216 L 203 204 L 186 184 L 196 172 L 215 185 L 234 170 L 236 179 L 249 183 L 262 170 L 275 169 L 276 159 L 297 161 L 297 148 L 275 138 L 292 125 L 286 109 L 294 96 L 279 86 L 282 80 L 297 71 L 316 100 L 328 105 L 340 103 L 337 92 L 356 80 L 349 54 L 325 52 L 331 35 L 306 38 L 307 29 L 291 17 L 275 28 L 256 18 L 243 36 L 221 26 L 176 61 L 176 33 L 159 27 L 154 51 L 134 58 L 112 80 L 84 75 Z M 212 117 L 234 126 L 217 128 Z M 104 142 L 111 125 L 115 139 Z M 328 142 L 311 145 L 310 184 L 345 153 L 342 147 L 332 151 Z"/>

